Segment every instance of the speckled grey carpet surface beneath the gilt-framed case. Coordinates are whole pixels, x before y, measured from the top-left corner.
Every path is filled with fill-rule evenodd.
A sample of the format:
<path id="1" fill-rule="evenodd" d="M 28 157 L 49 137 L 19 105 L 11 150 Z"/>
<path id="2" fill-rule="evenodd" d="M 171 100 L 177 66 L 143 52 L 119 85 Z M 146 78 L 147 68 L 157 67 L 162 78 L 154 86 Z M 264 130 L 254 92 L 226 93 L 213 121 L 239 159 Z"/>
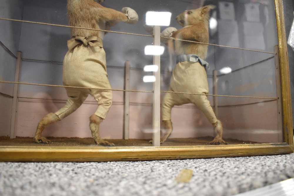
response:
<path id="1" fill-rule="evenodd" d="M 192 169 L 189 183 L 177 183 Z M 235 195 L 294 177 L 294 154 L 107 163 L 0 163 L 0 195 Z"/>

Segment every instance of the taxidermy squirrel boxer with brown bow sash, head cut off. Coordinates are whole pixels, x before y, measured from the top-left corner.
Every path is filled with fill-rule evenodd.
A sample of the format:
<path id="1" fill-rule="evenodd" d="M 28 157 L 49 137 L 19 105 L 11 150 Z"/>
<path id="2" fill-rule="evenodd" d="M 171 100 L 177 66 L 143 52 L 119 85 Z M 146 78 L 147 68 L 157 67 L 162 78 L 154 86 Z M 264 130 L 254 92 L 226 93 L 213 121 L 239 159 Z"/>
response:
<path id="1" fill-rule="evenodd" d="M 123 21 L 136 24 L 138 14 L 131 8 L 124 7 L 122 12 L 100 5 L 100 0 L 67 0 L 67 14 L 70 26 L 89 29 L 109 30 L 111 26 Z M 104 31 L 71 28 L 72 38 L 68 40 L 69 51 L 63 61 L 62 81 L 64 86 L 84 88 L 67 88 L 69 97 L 66 105 L 56 113 L 49 113 L 37 126 L 35 142 L 49 143 L 42 137 L 42 131 L 49 124 L 62 120 L 73 113 L 90 94 L 98 103 L 95 114 L 90 117 L 90 129 L 97 145 L 114 146 L 101 139 L 99 125 L 105 119 L 111 104 L 112 91 L 92 88 L 111 89 L 106 72 L 106 57 L 103 49 Z"/>

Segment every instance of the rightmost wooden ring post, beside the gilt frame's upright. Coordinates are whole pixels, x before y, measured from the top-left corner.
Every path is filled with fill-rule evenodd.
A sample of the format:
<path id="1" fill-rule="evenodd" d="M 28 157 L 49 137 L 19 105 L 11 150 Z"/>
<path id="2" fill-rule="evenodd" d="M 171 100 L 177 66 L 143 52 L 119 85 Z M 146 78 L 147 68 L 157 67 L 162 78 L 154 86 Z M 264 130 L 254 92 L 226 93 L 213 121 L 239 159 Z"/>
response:
<path id="1" fill-rule="evenodd" d="M 281 91 L 281 71 L 280 71 L 280 58 L 279 58 L 279 46 L 274 46 L 275 54 L 275 75 L 276 75 L 276 91 L 277 91 L 277 113 L 278 113 L 278 142 L 283 141 L 283 107 L 282 107 L 282 91 Z"/>

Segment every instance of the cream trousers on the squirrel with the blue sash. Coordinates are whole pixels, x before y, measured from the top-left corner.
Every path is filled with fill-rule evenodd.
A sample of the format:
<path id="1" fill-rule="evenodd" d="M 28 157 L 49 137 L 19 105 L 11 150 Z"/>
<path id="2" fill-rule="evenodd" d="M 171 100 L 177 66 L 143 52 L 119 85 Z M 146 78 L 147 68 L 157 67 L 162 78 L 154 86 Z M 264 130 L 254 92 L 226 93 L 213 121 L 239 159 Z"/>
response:
<path id="1" fill-rule="evenodd" d="M 206 70 L 199 62 L 179 62 L 173 69 L 171 86 L 168 91 L 208 94 Z M 216 115 L 205 95 L 166 93 L 161 105 L 162 120 L 171 120 L 171 108 L 174 105 L 195 104 L 210 123 L 216 123 Z"/>

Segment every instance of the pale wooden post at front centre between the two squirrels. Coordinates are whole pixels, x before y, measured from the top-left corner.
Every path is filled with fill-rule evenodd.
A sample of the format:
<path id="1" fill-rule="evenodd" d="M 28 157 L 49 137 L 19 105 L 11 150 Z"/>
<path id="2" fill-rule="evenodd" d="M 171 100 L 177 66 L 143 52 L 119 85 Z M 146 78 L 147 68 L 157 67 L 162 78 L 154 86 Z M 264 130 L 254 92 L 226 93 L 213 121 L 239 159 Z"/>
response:
<path id="1" fill-rule="evenodd" d="M 160 46 L 160 26 L 153 28 L 153 43 Z M 156 81 L 153 83 L 153 146 L 160 146 L 160 55 L 153 56 L 153 65 L 158 71 L 153 72 Z"/>

